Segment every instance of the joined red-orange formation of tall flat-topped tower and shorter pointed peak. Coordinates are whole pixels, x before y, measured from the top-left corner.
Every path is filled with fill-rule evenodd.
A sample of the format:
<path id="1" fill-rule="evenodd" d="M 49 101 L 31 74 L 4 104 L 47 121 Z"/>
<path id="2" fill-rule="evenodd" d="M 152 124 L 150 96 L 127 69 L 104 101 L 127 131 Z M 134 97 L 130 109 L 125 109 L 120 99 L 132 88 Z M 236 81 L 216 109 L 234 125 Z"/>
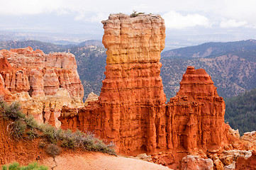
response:
<path id="1" fill-rule="evenodd" d="M 177 96 L 165 103 L 160 77 L 165 26 L 160 16 L 119 13 L 102 23 L 107 65 L 99 100 L 84 108 L 62 108 L 62 128 L 94 132 L 114 142 L 118 152 L 147 152 L 164 165 L 187 154 L 221 152 L 238 140 L 224 123 L 225 103 L 204 69 L 188 67 Z"/>

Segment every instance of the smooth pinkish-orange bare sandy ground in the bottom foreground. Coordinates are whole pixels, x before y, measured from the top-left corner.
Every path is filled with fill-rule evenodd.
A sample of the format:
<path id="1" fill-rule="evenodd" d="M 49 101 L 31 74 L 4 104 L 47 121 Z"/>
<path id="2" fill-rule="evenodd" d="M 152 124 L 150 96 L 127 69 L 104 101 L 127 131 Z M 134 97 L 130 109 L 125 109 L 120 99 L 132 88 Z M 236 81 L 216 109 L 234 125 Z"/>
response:
<path id="1" fill-rule="evenodd" d="M 40 164 L 54 167 L 55 170 L 167 170 L 166 166 L 145 162 L 139 159 L 116 157 L 102 153 L 61 154 L 53 158 L 40 160 Z"/>

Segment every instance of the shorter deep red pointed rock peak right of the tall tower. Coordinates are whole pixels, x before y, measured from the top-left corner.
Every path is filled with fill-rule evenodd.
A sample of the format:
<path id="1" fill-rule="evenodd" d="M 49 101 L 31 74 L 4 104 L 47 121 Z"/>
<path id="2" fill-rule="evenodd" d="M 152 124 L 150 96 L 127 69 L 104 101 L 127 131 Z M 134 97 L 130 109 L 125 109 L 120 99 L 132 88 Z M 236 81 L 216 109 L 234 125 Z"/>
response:
<path id="1" fill-rule="evenodd" d="M 167 103 L 168 148 L 216 149 L 228 143 L 225 102 L 204 69 L 188 67 L 180 89 Z"/>

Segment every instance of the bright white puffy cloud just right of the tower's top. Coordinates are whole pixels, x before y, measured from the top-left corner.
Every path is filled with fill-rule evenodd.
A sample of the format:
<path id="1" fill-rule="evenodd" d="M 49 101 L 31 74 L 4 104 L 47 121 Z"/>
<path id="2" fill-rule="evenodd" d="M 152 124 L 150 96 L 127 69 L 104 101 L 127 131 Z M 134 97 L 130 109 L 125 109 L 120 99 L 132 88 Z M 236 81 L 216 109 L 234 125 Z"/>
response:
<path id="1" fill-rule="evenodd" d="M 176 11 L 169 11 L 162 16 L 165 19 L 165 26 L 171 29 L 182 29 L 194 26 L 211 27 L 211 23 L 205 16 L 199 14 L 187 14 L 183 16 Z"/>

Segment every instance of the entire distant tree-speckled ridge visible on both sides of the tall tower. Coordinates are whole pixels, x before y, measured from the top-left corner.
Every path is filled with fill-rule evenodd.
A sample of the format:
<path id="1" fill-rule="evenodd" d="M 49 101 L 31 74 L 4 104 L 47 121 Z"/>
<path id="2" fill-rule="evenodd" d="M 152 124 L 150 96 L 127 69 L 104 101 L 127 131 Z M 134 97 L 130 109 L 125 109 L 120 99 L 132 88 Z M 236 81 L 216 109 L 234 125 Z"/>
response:
<path id="1" fill-rule="evenodd" d="M 77 45 L 55 45 L 36 40 L 0 42 L 0 50 L 28 46 L 45 53 L 74 54 L 85 97 L 91 91 L 99 95 L 106 66 L 106 49 L 100 41 L 88 40 Z M 179 82 L 189 65 L 205 69 L 217 86 L 219 96 L 224 98 L 256 88 L 256 40 L 207 42 L 165 51 L 161 57 L 160 76 L 167 101 L 179 90 Z"/>

